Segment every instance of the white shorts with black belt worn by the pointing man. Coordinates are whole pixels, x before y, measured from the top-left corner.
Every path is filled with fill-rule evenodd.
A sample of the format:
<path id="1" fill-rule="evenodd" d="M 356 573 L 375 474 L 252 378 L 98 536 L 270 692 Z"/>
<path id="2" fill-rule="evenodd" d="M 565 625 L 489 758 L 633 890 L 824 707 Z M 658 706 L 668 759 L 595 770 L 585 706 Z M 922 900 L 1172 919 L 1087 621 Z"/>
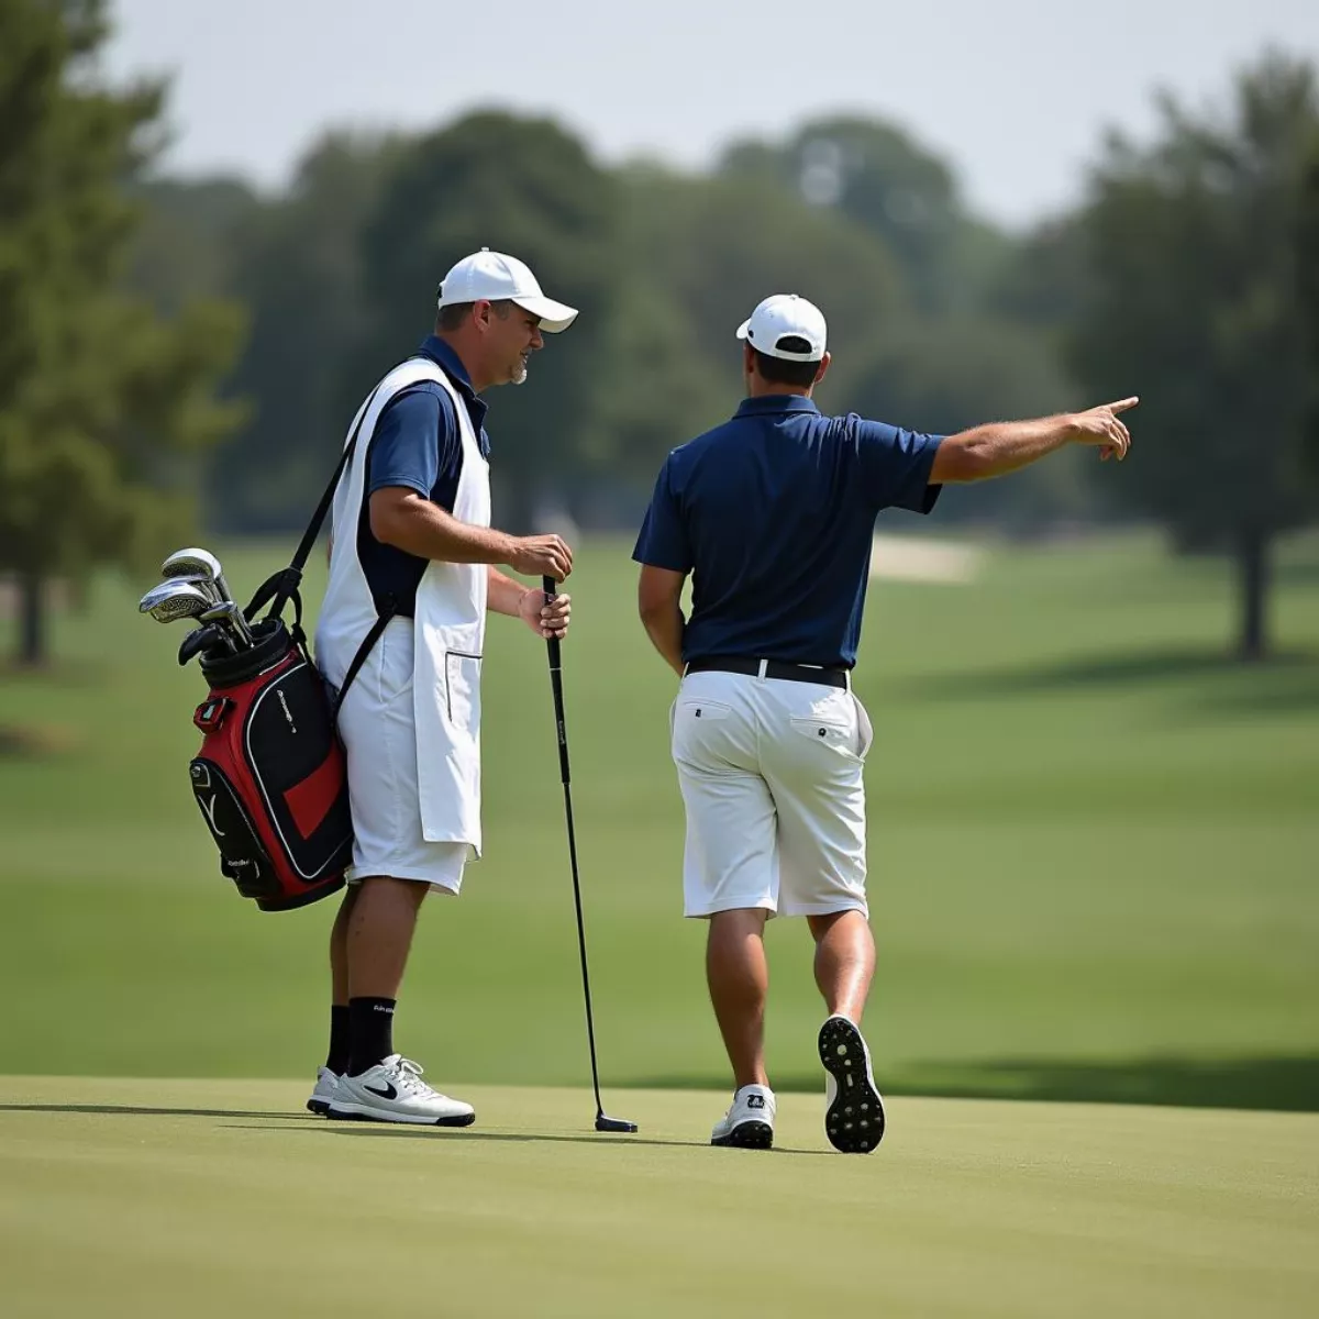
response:
<path id="1" fill-rule="evenodd" d="M 861 770 L 874 732 L 851 690 L 694 673 L 671 718 L 686 914 L 868 914 Z"/>

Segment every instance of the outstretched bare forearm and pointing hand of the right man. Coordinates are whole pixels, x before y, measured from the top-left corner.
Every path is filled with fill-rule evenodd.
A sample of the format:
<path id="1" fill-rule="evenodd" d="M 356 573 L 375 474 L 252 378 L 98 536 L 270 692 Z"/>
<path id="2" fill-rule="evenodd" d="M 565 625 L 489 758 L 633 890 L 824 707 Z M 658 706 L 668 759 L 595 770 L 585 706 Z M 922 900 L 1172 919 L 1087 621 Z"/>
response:
<path id="1" fill-rule="evenodd" d="M 1097 445 L 1100 458 L 1121 462 L 1132 437 L 1119 414 L 1140 400 L 1122 398 L 1082 413 L 1060 413 L 1034 421 L 1004 421 L 950 435 L 939 445 L 930 484 L 983 481 L 1029 467 L 1067 445 Z"/>

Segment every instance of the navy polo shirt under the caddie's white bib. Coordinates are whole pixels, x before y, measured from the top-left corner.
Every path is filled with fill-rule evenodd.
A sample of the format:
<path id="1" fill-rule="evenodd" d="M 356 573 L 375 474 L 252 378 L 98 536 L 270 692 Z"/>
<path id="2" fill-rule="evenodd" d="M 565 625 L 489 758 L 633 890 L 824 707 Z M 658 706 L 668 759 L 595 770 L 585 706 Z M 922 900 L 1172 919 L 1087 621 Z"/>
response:
<path id="1" fill-rule="evenodd" d="M 458 353 L 435 335 L 426 339 L 417 353 L 430 357 L 452 381 L 472 419 L 481 454 L 488 458 L 489 438 L 484 430 L 487 405 L 472 389 L 471 377 Z M 394 394 L 371 437 L 367 497 L 361 501 L 357 520 L 357 558 L 376 608 L 392 596 L 396 612 L 410 616 L 427 561 L 393 545 L 383 545 L 371 534 L 371 496 L 385 487 L 401 485 L 452 513 L 462 472 L 463 442 L 448 390 L 433 380 L 423 380 Z"/>

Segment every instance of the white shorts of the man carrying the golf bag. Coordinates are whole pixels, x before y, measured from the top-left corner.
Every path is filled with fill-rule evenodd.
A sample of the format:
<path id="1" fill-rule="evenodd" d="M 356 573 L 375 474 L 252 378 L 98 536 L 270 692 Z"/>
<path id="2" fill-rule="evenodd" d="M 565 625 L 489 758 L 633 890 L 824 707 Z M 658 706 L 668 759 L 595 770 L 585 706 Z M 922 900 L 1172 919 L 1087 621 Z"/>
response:
<path id="1" fill-rule="evenodd" d="M 412 619 L 390 619 L 376 641 L 344 696 L 339 735 L 353 832 L 347 881 L 385 874 L 456 894 L 468 845 L 427 843 L 421 830 Z"/>

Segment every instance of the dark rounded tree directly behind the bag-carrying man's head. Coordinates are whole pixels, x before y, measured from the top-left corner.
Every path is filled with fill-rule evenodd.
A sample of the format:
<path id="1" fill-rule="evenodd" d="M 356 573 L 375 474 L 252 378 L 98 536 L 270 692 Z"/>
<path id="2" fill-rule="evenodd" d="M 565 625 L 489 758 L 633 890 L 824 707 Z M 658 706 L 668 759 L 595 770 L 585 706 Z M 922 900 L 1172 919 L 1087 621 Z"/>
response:
<path id="1" fill-rule="evenodd" d="M 344 423 L 373 377 L 430 330 L 445 272 L 481 247 L 521 257 L 578 307 L 526 385 L 492 401 L 497 518 L 526 526 L 565 496 L 596 402 L 617 285 L 617 187 L 543 119 L 481 112 L 408 144 L 363 237 L 363 331 L 346 373 Z"/>

